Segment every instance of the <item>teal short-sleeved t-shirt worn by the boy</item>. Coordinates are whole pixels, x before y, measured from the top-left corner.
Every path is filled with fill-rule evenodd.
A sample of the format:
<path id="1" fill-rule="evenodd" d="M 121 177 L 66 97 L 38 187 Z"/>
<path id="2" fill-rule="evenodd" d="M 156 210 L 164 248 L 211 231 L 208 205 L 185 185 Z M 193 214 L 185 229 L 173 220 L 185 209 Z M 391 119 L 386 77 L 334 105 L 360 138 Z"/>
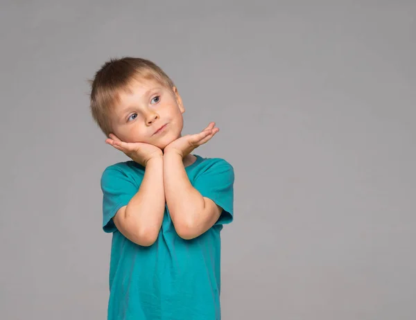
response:
<path id="1" fill-rule="evenodd" d="M 233 220 L 234 170 L 223 159 L 196 157 L 185 168 L 189 181 L 223 213 L 207 232 L 184 240 L 166 206 L 159 236 L 150 247 L 125 238 L 112 221 L 139 190 L 145 168 L 126 161 L 103 172 L 103 230 L 112 233 L 109 320 L 220 319 L 220 231 Z"/>

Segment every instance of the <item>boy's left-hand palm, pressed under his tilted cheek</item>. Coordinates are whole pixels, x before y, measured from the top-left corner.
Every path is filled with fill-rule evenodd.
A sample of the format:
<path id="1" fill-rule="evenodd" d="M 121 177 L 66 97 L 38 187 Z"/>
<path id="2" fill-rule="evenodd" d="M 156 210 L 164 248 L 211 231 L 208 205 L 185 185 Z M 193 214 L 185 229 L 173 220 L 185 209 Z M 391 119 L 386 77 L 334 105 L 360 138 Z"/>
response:
<path id="1" fill-rule="evenodd" d="M 112 145 L 117 150 L 124 152 L 130 159 L 146 167 L 146 163 L 156 157 L 163 157 L 163 152 L 155 145 L 148 143 L 128 143 L 123 142 L 114 134 L 110 134 L 110 138 L 105 143 Z"/>

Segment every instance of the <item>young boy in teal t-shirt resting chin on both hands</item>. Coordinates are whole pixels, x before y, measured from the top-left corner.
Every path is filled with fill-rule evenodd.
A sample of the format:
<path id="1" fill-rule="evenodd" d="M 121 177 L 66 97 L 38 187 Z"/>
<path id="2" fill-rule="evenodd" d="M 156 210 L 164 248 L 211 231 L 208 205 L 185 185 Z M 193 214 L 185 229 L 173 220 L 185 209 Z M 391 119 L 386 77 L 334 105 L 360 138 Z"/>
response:
<path id="1" fill-rule="evenodd" d="M 191 153 L 215 123 L 182 136 L 173 81 L 134 57 L 103 64 L 91 111 L 105 142 L 132 159 L 101 177 L 103 230 L 112 233 L 107 319 L 220 319 L 220 231 L 233 220 L 234 170 Z"/>

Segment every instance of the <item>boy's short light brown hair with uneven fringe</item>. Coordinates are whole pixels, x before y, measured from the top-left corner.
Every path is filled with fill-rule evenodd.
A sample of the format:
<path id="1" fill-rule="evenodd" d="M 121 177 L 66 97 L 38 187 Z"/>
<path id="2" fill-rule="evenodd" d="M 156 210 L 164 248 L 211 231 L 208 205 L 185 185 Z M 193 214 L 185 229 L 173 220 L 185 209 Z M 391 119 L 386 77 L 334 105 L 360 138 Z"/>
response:
<path id="1" fill-rule="evenodd" d="M 132 80 L 157 80 L 173 92 L 171 78 L 154 62 L 141 57 L 112 58 L 90 80 L 90 111 L 105 136 L 112 132 L 112 106 L 119 100 L 120 91 L 130 92 Z"/>

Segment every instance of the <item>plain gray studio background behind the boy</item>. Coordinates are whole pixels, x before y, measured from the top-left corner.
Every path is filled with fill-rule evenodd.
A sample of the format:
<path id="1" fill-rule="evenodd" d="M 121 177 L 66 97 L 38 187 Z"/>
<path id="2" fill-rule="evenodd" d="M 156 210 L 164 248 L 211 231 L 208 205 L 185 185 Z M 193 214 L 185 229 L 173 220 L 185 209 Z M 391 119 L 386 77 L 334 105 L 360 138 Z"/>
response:
<path id="1" fill-rule="evenodd" d="M 313 2 L 313 3 L 312 3 Z M 105 319 L 89 115 L 109 57 L 155 61 L 234 166 L 223 319 L 416 319 L 415 1 L 1 1 L 1 319 Z M 190 319 L 191 320 L 191 319 Z"/>

